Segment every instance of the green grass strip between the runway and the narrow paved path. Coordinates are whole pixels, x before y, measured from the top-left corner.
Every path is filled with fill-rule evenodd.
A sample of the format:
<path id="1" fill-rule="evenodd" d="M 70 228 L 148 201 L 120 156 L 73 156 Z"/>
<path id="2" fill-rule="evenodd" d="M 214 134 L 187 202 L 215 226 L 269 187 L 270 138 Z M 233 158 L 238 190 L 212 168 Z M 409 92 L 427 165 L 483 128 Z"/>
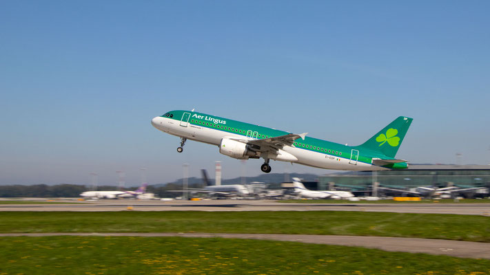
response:
<path id="1" fill-rule="evenodd" d="M 490 217 L 347 211 L 0 212 L 0 232 L 216 232 L 490 242 Z"/>

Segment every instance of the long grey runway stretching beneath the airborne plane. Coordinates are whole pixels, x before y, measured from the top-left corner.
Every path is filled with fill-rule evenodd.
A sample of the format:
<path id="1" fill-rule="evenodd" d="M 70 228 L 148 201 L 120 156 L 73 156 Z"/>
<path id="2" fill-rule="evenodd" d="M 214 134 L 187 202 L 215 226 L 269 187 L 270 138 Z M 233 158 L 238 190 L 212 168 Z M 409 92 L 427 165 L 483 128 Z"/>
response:
<path id="1" fill-rule="evenodd" d="M 66 201 L 68 202 L 68 201 Z M 73 202 L 73 201 L 70 201 Z M 105 199 L 72 204 L 0 204 L 0 211 L 365 211 L 490 216 L 490 203 L 283 203 L 269 200 L 143 201 Z"/>

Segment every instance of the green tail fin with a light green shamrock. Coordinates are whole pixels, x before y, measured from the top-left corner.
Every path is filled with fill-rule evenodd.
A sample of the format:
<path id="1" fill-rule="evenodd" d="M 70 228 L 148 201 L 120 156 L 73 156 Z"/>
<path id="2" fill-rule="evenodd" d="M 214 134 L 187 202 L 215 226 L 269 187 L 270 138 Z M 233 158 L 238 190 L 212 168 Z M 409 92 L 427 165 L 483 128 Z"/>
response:
<path id="1" fill-rule="evenodd" d="M 398 117 L 359 147 L 380 151 L 387 157 L 395 157 L 412 120 L 414 119 L 405 116 Z"/>

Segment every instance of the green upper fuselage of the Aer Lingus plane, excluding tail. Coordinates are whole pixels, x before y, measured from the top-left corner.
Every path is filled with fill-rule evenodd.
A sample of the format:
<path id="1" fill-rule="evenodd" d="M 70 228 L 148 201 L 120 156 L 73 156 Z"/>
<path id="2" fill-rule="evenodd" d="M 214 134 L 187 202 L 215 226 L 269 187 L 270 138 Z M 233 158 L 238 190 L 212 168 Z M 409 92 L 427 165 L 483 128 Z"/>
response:
<path id="1" fill-rule="evenodd" d="M 229 120 L 227 118 L 221 118 L 215 115 L 208 115 L 205 113 L 198 113 L 193 111 L 176 110 L 168 112 L 173 115 L 173 120 L 182 120 L 184 113 L 190 113 L 189 123 L 196 126 L 203 126 L 209 129 L 215 129 L 227 133 L 234 133 L 236 135 L 247 136 L 247 132 L 257 132 L 257 139 L 264 139 L 268 137 L 278 137 L 280 135 L 287 135 L 289 132 L 280 131 L 276 129 L 267 128 L 264 126 L 258 126 L 236 120 Z M 165 118 L 165 115 L 161 115 Z M 167 117 L 168 118 L 168 117 Z M 254 136 L 255 137 L 255 136 Z M 366 164 L 372 163 L 373 157 L 386 159 L 385 155 L 382 155 L 375 151 L 369 151 L 365 148 L 359 149 L 357 146 L 346 146 L 335 142 L 329 142 L 327 140 L 319 140 L 314 137 L 305 137 L 305 140 L 298 139 L 294 142 L 296 148 L 301 148 L 316 153 L 323 153 L 335 158 L 351 159 L 352 149 L 359 151 L 358 162 Z"/>

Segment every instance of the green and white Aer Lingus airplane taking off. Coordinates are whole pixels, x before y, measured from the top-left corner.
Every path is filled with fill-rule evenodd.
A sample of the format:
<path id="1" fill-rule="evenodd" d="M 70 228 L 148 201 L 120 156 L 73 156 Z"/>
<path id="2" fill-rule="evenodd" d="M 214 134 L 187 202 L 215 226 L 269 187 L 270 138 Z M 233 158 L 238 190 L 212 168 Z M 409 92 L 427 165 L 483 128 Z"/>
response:
<path id="1" fill-rule="evenodd" d="M 261 170 L 269 173 L 269 160 L 291 162 L 334 170 L 389 170 L 408 168 L 406 160 L 395 159 L 412 118 L 400 116 L 365 143 L 347 146 L 214 115 L 192 111 L 169 111 L 152 119 L 152 125 L 181 137 L 178 153 L 187 140 L 219 147 L 235 159 L 264 159 Z"/>

